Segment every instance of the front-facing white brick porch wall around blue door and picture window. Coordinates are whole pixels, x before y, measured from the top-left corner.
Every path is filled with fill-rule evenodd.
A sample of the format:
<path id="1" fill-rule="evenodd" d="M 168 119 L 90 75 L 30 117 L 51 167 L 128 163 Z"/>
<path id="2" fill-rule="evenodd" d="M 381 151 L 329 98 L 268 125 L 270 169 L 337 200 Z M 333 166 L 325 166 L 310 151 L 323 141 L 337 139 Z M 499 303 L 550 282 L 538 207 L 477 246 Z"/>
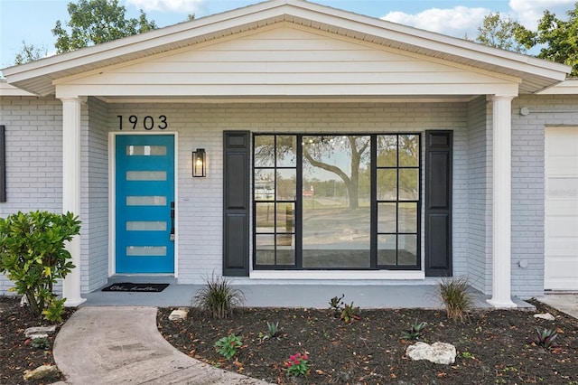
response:
<path id="1" fill-rule="evenodd" d="M 168 130 L 178 132 L 179 162 L 179 282 L 202 283 L 222 268 L 222 132 L 253 133 L 424 132 L 452 129 L 456 140 L 454 164 L 454 268 L 466 272 L 468 174 L 465 103 L 416 104 L 126 104 L 108 106 L 108 128 L 117 130 L 117 115 L 168 117 Z M 126 127 L 125 127 L 126 129 Z M 144 129 L 141 127 L 141 131 Z M 191 177 L 191 151 L 204 147 L 208 177 Z M 423 175 L 424 176 L 424 175 Z M 461 181 L 461 182 L 460 182 Z M 199 226 L 202 223 L 202 226 Z M 243 279 L 239 279 L 243 281 Z"/>

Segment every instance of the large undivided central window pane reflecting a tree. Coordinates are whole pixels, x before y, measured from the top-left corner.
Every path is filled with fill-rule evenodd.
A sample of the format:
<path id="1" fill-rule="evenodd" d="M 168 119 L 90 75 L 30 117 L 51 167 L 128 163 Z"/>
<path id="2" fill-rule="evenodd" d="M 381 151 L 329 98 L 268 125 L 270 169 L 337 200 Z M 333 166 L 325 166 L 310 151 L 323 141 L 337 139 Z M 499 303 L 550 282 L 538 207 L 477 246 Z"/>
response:
<path id="1" fill-rule="evenodd" d="M 369 139 L 303 137 L 303 268 L 369 268 Z"/>

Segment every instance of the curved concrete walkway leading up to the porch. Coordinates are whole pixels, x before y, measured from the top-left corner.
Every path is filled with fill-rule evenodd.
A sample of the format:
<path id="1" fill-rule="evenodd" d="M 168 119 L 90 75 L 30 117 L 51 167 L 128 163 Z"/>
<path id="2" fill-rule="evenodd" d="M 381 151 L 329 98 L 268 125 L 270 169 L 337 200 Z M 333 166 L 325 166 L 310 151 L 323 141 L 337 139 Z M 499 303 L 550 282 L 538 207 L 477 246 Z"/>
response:
<path id="1" fill-rule="evenodd" d="M 84 306 L 61 328 L 59 384 L 266 384 L 191 359 L 156 329 L 156 308 Z"/>

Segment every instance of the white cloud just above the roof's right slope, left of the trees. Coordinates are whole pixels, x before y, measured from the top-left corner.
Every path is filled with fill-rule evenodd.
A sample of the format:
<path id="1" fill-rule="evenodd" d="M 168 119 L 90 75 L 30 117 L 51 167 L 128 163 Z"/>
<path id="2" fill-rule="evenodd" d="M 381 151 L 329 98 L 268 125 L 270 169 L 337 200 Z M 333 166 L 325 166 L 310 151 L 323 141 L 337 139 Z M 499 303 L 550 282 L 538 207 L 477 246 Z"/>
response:
<path id="1" fill-rule="evenodd" d="M 476 36 L 478 26 L 482 23 L 484 16 L 489 13 L 490 10 L 487 8 L 456 6 L 446 9 L 427 9 L 419 14 L 390 12 L 382 19 L 460 38 L 467 33 L 473 38 Z"/>

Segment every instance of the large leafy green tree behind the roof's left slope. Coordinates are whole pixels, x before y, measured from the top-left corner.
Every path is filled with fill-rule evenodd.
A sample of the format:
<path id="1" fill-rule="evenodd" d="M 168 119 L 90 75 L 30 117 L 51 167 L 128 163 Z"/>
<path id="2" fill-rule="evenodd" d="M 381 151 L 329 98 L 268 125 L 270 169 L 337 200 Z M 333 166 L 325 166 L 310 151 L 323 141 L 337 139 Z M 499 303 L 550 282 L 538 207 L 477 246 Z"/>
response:
<path id="1" fill-rule="evenodd" d="M 60 20 L 52 29 L 58 53 L 70 52 L 101 42 L 110 42 L 126 36 L 154 30 L 154 21 L 148 21 L 141 10 L 138 19 L 126 19 L 126 8 L 118 0 L 80 0 L 69 3 L 70 32 Z"/>

